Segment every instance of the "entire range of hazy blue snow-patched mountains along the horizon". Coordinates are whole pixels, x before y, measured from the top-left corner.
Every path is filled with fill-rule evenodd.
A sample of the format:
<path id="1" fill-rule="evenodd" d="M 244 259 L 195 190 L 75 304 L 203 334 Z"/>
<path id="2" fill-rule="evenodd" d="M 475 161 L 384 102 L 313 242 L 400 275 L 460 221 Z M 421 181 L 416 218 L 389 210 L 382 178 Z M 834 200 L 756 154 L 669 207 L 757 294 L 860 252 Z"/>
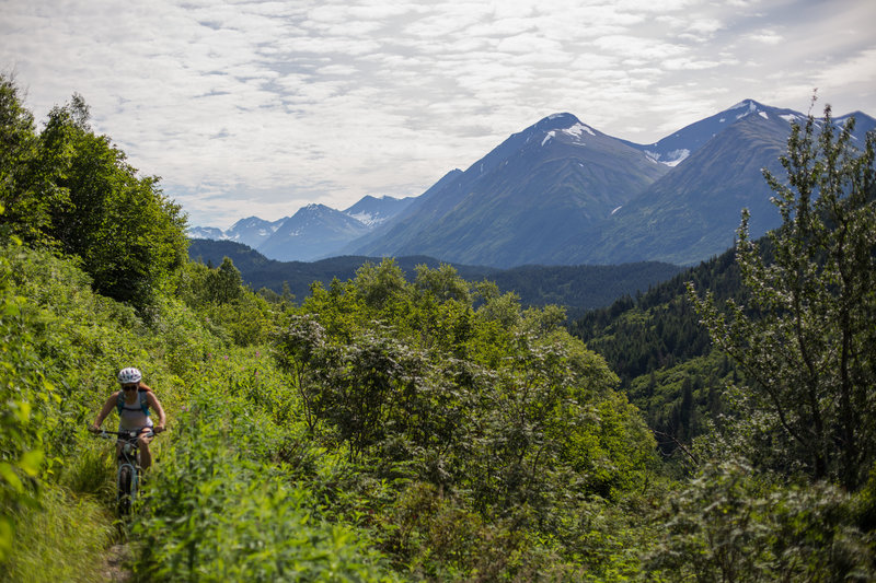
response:
<path id="1" fill-rule="evenodd" d="M 863 143 L 876 120 L 851 115 Z M 555 114 L 416 198 L 366 197 L 345 211 L 311 205 L 273 223 L 250 218 L 227 233 L 191 235 L 244 243 L 278 260 L 425 255 L 499 268 L 694 265 L 733 245 L 744 207 L 753 237 L 777 226 L 762 168 L 783 176 L 791 124 L 804 119 L 746 100 L 637 144 Z"/>

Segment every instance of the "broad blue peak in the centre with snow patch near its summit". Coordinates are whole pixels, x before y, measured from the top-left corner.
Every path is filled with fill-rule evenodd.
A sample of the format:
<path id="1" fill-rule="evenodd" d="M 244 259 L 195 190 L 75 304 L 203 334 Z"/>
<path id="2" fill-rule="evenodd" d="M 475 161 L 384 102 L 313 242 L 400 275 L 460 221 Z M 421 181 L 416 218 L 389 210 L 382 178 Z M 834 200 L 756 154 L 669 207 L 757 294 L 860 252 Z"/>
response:
<path id="1" fill-rule="evenodd" d="M 570 114 L 515 133 L 345 253 L 469 265 L 543 263 L 669 171 Z"/>

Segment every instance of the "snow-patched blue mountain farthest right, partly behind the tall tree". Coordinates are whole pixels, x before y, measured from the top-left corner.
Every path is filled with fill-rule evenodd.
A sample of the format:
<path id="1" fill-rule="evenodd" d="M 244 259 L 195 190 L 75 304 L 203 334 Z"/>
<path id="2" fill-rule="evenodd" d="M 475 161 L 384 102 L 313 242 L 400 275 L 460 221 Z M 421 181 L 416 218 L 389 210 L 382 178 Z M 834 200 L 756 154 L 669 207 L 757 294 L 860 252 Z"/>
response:
<path id="1" fill-rule="evenodd" d="M 597 229 L 570 236 L 553 263 L 695 265 L 733 246 L 742 208 L 751 211 L 752 237 L 775 229 L 781 217 L 762 171 L 784 177 L 779 159 L 787 151 L 791 123 L 804 119 L 748 100 L 660 140 L 656 155 L 676 145 L 690 153 Z M 856 121 L 861 140 L 876 127 L 861 114 Z"/>

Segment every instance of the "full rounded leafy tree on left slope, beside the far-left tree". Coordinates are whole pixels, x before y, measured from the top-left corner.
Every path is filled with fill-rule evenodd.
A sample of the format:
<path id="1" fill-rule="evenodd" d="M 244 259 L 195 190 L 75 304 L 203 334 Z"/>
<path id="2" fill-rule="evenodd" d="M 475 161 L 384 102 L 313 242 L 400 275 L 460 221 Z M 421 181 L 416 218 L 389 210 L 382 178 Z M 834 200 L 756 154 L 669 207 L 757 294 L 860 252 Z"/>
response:
<path id="1" fill-rule="evenodd" d="M 138 177 L 110 138 L 96 136 L 81 96 L 55 107 L 41 135 L 45 164 L 69 203 L 51 208 L 48 234 L 82 258 L 97 292 L 135 307 L 151 304 L 186 260 L 185 215 L 155 176 Z"/>

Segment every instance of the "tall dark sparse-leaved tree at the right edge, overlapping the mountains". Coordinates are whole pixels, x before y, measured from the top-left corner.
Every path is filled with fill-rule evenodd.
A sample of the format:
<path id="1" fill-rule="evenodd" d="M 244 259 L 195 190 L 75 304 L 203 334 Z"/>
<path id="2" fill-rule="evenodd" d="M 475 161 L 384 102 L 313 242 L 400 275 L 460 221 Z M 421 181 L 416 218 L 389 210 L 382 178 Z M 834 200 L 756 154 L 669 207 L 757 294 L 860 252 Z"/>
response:
<path id="1" fill-rule="evenodd" d="M 750 381 L 745 399 L 785 441 L 785 469 L 799 464 L 850 489 L 876 458 L 876 136 L 857 149 L 853 128 L 853 118 L 835 127 L 830 106 L 822 123 L 809 115 L 781 159 L 787 182 L 764 173 L 783 223 L 768 236 L 769 261 L 742 213 L 737 261 L 749 305 L 721 312 L 689 284 L 713 341 Z"/>

